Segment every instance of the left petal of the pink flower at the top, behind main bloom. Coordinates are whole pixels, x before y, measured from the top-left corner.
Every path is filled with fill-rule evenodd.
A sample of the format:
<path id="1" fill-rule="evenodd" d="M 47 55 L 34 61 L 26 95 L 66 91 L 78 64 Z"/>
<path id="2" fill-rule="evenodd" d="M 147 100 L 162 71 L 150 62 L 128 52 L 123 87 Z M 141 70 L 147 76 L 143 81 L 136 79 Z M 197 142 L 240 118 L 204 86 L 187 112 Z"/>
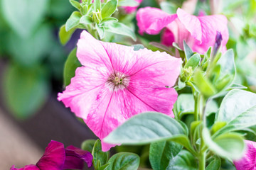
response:
<path id="1" fill-rule="evenodd" d="M 177 18 L 176 14 L 170 15 L 159 8 L 139 8 L 137 11 L 137 24 L 139 33 L 158 34 L 161 29 Z"/>

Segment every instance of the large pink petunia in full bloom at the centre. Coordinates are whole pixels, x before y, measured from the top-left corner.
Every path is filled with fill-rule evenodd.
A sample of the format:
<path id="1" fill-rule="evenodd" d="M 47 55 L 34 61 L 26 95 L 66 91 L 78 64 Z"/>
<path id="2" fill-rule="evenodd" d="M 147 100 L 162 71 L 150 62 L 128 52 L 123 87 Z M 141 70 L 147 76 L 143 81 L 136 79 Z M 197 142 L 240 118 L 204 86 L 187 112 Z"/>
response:
<path id="1" fill-rule="evenodd" d="M 173 88 L 181 60 L 166 52 L 134 51 L 133 47 L 96 40 L 83 31 L 78 40 L 82 64 L 58 100 L 102 140 L 133 115 L 158 111 L 174 117 Z M 102 142 L 102 150 L 114 145 Z"/>

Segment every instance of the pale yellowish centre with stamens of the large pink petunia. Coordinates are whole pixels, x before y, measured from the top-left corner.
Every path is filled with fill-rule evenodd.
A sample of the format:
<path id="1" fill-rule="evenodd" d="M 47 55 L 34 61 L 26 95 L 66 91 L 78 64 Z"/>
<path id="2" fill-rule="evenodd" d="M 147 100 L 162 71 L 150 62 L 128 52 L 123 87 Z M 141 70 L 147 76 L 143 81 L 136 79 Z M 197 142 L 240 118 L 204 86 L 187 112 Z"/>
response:
<path id="1" fill-rule="evenodd" d="M 129 77 L 121 72 L 114 72 L 107 78 L 106 84 L 113 91 L 124 89 L 129 85 Z"/>

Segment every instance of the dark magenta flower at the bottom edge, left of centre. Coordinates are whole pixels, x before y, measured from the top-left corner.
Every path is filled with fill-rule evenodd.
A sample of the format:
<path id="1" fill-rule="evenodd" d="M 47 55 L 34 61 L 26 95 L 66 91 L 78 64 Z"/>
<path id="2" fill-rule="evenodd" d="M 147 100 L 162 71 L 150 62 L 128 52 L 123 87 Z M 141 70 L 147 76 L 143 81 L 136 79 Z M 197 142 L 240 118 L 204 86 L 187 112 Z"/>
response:
<path id="1" fill-rule="evenodd" d="M 92 154 L 77 147 L 69 146 L 66 149 L 60 142 L 52 140 L 43 157 L 36 165 L 26 165 L 21 169 L 11 166 L 10 170 L 62 170 L 62 169 L 83 169 L 84 162 L 92 166 Z"/>

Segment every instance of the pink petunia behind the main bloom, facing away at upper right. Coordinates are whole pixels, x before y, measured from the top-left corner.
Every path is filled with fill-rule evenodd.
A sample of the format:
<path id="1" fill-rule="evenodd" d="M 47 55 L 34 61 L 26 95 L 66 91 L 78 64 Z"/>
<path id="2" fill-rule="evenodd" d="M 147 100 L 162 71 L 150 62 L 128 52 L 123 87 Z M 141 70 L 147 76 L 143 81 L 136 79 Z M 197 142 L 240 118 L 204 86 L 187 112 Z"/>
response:
<path id="1" fill-rule="evenodd" d="M 225 52 L 228 42 L 228 20 L 223 15 L 192 16 L 181 8 L 176 14 L 169 14 L 159 8 L 140 8 L 137 12 L 139 33 L 158 34 L 163 28 L 161 42 L 171 46 L 178 43 L 183 49 L 183 40 L 194 52 L 204 54 L 213 47 L 217 32 L 222 35 L 221 51 Z"/>

